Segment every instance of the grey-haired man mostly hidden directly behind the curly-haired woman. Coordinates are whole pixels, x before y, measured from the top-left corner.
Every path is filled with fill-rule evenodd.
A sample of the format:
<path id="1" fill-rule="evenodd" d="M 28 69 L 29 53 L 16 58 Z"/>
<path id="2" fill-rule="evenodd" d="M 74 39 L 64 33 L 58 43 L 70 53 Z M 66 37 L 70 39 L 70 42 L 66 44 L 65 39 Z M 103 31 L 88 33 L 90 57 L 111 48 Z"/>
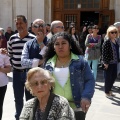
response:
<path id="1" fill-rule="evenodd" d="M 64 25 L 62 21 L 55 20 L 51 23 L 51 29 L 50 33 L 47 35 L 48 39 L 51 39 L 51 37 L 58 32 L 63 32 L 64 31 Z"/>

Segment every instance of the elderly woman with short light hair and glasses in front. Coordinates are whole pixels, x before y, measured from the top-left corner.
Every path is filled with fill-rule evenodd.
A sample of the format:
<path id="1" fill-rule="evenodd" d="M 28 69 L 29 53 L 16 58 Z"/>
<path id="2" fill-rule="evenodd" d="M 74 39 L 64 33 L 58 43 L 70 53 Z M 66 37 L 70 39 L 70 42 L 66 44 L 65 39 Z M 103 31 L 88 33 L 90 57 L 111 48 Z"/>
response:
<path id="1" fill-rule="evenodd" d="M 24 105 L 20 120 L 75 120 L 66 98 L 52 93 L 55 80 L 48 70 L 36 67 L 27 73 L 27 89 L 36 96 Z"/>

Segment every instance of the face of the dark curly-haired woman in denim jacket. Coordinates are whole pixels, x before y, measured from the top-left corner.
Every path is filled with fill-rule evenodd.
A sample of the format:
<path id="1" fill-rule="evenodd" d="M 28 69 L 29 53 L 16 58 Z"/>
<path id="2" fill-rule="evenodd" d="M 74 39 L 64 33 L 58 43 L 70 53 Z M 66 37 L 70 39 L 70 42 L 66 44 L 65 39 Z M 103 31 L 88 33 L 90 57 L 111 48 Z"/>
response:
<path id="1" fill-rule="evenodd" d="M 54 49 L 58 57 L 68 57 L 70 55 L 70 44 L 62 37 L 57 37 Z"/>

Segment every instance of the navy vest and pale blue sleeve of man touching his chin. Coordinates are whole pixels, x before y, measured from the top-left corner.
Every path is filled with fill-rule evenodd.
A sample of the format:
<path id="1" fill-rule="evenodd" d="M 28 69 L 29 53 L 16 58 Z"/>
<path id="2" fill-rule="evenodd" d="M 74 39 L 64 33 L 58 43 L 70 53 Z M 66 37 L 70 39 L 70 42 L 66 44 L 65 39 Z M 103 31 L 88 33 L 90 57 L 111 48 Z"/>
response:
<path id="1" fill-rule="evenodd" d="M 47 37 L 43 40 L 44 45 L 47 44 Z M 33 59 L 42 59 L 42 55 L 40 55 L 41 49 L 39 44 L 37 43 L 37 39 L 34 38 L 33 40 L 30 40 L 25 43 L 22 56 L 21 56 L 21 65 L 24 68 L 31 68 L 33 64 Z"/>

